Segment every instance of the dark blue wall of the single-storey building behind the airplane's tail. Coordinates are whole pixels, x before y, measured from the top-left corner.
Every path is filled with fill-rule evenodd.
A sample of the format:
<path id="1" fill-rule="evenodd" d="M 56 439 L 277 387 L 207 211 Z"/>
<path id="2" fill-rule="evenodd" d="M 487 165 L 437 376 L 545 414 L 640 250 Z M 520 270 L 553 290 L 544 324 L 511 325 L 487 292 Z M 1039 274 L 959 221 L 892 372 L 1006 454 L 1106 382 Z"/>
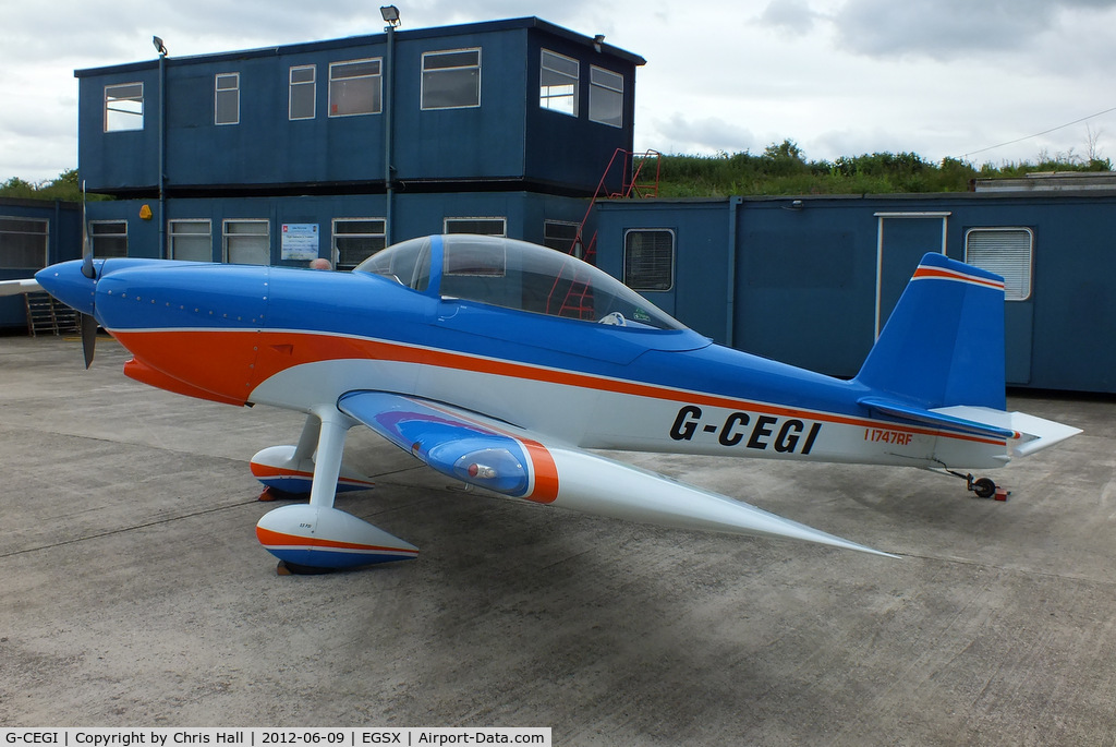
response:
<path id="1" fill-rule="evenodd" d="M 875 335 L 881 298 L 897 298 L 911 267 L 877 278 L 879 217 L 944 213 L 946 253 L 963 260 L 972 228 L 1033 231 L 1031 296 L 1004 304 L 1009 385 L 1116 393 L 1116 195 L 1110 193 L 960 193 L 744 198 L 706 205 L 699 221 L 686 201 L 602 205 L 598 264 L 623 271 L 623 236 L 632 228 L 677 231 L 670 294 L 647 294 L 683 323 L 723 342 L 710 309 L 722 297 L 731 262 L 715 261 L 710 241 L 735 230 L 735 347 L 840 376 L 855 375 Z M 941 217 L 885 218 L 885 246 L 941 250 Z M 907 222 L 907 221 L 911 222 Z M 728 246 L 728 241 L 725 241 Z M 886 258 L 885 258 L 886 259 Z M 907 261 L 910 260 L 910 261 Z M 899 262 L 903 264 L 903 262 Z M 887 308 L 882 309 L 886 317 Z"/>

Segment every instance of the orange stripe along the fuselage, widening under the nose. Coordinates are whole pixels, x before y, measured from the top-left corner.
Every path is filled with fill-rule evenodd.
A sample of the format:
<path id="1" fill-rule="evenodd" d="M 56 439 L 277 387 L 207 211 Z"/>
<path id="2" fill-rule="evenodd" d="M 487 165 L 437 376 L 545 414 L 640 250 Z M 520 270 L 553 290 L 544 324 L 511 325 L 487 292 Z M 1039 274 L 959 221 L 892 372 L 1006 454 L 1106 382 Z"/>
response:
<path id="1" fill-rule="evenodd" d="M 925 268 L 920 268 L 920 271 L 923 269 Z M 239 401 L 248 399 L 250 392 L 256 386 L 271 376 L 298 365 L 320 361 L 378 360 L 485 373 L 667 402 L 684 402 L 729 410 L 748 410 L 749 412 L 788 418 L 810 418 L 840 425 L 864 427 L 878 425 L 881 422 L 885 422 L 887 428 L 892 430 L 908 433 L 943 435 L 974 443 L 1006 446 L 1003 439 L 983 438 L 855 415 L 840 415 L 824 411 L 750 402 L 731 396 L 694 392 L 658 384 L 645 384 L 624 379 L 610 379 L 561 368 L 548 368 L 527 363 L 487 358 L 468 353 L 324 332 L 157 329 L 143 332 L 114 331 L 113 334 L 137 358 L 166 372 L 167 375 L 189 381 L 191 384 L 206 391 L 238 399 Z M 250 356 L 256 356 L 253 362 L 250 362 Z M 155 361 L 167 362 L 166 365 L 176 365 L 180 367 L 167 371 L 163 366 L 157 365 Z M 229 361 L 232 361 L 232 363 L 230 364 Z M 247 384 L 243 383 L 246 379 Z M 248 394 L 246 394 L 244 390 L 248 391 Z M 239 392 L 239 398 L 233 392 Z"/>

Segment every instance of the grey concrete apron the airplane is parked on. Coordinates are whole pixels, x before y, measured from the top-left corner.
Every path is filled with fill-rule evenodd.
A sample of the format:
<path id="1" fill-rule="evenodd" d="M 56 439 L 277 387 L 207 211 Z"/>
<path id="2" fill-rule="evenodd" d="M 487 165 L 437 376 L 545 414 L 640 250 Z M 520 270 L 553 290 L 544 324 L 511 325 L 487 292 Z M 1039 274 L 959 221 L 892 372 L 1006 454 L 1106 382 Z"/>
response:
<path id="1" fill-rule="evenodd" d="M 451 489 L 363 429 L 417 561 L 279 576 L 248 461 L 304 416 L 0 338 L 0 726 L 525 726 L 555 745 L 1116 744 L 1116 402 L 991 476 L 622 458 L 902 555 Z"/>

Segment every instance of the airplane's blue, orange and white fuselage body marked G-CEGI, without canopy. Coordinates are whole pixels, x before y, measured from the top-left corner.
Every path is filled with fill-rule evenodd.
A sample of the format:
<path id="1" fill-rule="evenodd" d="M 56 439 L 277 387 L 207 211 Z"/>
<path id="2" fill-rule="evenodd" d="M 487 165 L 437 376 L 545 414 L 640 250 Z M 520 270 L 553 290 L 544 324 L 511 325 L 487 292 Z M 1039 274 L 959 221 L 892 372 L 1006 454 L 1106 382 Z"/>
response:
<path id="1" fill-rule="evenodd" d="M 1006 462 L 1003 439 L 870 416 L 855 382 L 690 329 L 499 308 L 377 275 L 108 260 L 95 308 L 135 355 L 129 376 L 231 404 L 309 411 L 324 395 L 375 389 L 453 402 L 583 448 Z"/>

